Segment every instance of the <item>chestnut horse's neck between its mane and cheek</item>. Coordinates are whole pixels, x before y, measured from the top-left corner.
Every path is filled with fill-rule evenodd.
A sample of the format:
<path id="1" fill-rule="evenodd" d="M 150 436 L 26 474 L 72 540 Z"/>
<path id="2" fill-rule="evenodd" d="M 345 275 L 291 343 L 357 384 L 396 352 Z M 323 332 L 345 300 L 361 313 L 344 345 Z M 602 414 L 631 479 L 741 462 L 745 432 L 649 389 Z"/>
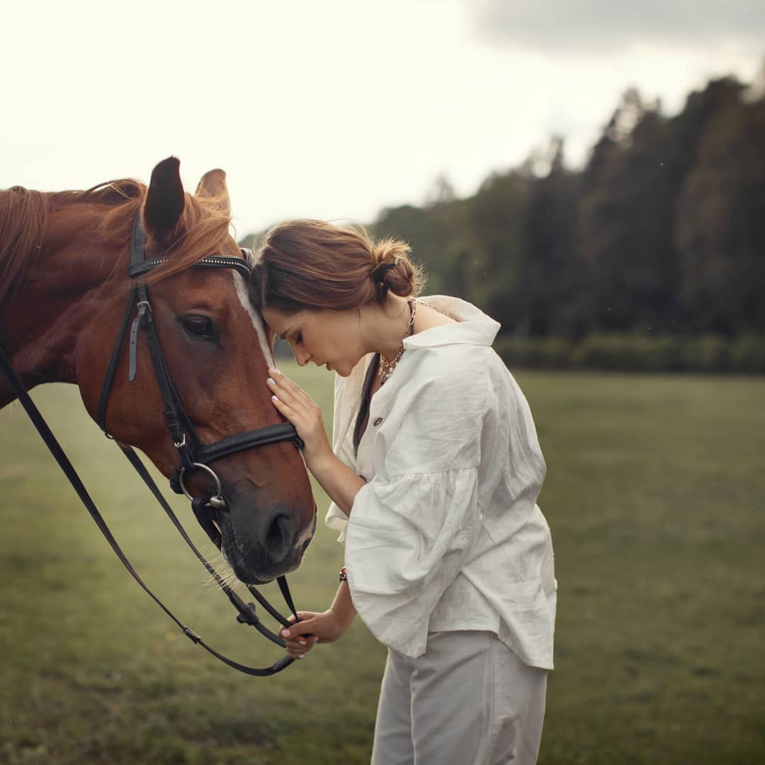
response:
<path id="1" fill-rule="evenodd" d="M 119 248 L 96 234 L 104 207 L 59 196 L 50 195 L 39 252 L 0 305 L 0 346 L 28 389 L 41 382 L 77 382 L 78 334 L 99 321 L 106 308 L 102 288 L 122 273 L 115 269 Z M 14 398 L 0 379 L 0 406 Z"/>

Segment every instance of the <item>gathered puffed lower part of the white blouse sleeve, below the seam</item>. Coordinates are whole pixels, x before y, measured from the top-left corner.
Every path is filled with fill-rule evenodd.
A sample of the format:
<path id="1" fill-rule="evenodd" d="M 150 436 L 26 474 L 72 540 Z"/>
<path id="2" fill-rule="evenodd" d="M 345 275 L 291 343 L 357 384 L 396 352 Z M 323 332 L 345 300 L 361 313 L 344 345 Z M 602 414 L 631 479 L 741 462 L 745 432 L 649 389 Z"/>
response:
<path id="1" fill-rule="evenodd" d="M 345 561 L 353 605 L 381 643 L 425 652 L 431 612 L 479 530 L 476 468 L 374 479 L 360 490 Z"/>

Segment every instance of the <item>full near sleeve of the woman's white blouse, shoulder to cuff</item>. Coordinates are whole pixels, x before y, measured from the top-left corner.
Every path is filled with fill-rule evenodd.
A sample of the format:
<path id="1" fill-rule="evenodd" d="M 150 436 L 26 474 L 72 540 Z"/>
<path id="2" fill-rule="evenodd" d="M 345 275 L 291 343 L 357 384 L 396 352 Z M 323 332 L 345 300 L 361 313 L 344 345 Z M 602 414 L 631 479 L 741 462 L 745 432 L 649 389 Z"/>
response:
<path id="1" fill-rule="evenodd" d="M 454 376 L 397 392 L 375 437 L 376 475 L 353 500 L 345 552 L 353 604 L 405 656 L 424 653 L 431 612 L 480 532 L 484 400 L 480 380 Z"/>

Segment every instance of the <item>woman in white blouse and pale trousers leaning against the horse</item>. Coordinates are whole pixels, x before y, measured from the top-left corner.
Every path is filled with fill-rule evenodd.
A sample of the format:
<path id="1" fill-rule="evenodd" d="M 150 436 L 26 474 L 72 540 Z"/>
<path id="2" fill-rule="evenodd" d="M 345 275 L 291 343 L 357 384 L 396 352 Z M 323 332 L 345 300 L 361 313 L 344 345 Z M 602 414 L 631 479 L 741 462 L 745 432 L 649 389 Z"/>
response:
<path id="1" fill-rule="evenodd" d="M 491 349 L 499 324 L 415 299 L 421 281 L 404 243 L 321 221 L 275 226 L 259 249 L 265 321 L 298 364 L 336 373 L 330 446 L 318 406 L 269 370 L 345 543 L 330 608 L 282 634 L 302 659 L 358 613 L 388 646 L 373 763 L 533 763 L 555 620 L 545 463 Z"/>

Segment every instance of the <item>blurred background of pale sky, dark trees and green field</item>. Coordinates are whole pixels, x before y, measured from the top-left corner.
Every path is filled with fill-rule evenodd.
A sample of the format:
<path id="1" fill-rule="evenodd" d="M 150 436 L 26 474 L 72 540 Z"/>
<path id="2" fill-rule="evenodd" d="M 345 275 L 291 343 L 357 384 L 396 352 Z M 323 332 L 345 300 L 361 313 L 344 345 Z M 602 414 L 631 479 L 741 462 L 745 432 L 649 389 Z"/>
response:
<path id="1" fill-rule="evenodd" d="M 756 763 L 763 33 L 750 0 L 15 5 L 0 187 L 148 181 L 176 155 L 188 190 L 226 170 L 245 244 L 294 216 L 407 239 L 427 292 L 503 324 L 548 461 L 540 762 Z M 330 376 L 285 371 L 329 422 Z M 272 662 L 77 391 L 35 398 L 161 597 Z M 363 625 L 277 678 L 233 677 L 109 557 L 18 405 L 0 439 L 0 762 L 368 761 L 384 651 Z M 311 551 L 293 589 L 323 608 L 342 551 L 324 529 Z"/>

